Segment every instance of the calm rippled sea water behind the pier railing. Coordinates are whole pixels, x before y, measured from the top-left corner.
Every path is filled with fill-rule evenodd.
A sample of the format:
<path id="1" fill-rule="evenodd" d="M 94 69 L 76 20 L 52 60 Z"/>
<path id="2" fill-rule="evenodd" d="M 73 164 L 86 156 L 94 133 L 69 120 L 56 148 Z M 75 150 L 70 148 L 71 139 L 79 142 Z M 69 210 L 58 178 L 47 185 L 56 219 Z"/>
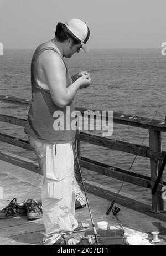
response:
<path id="1" fill-rule="evenodd" d="M 0 94 L 30 99 L 30 61 L 34 49 L 4 50 L 0 57 Z M 165 81 L 166 57 L 160 49 L 100 49 L 89 54 L 79 53 L 66 59 L 71 74 L 89 71 L 91 86 L 79 90 L 76 106 L 88 109 L 113 110 L 124 114 L 164 120 L 166 114 Z M 20 104 L 0 103 L 1 114 L 27 118 L 29 107 Z M 18 126 L 1 124 L 1 132 L 27 140 Z M 112 139 L 141 144 L 147 130 L 114 125 Z M 148 145 L 148 137 L 144 142 Z M 81 143 L 82 156 L 128 170 L 134 155 L 102 149 Z M 166 150 L 166 136 L 162 134 L 162 147 Z M 0 143 L 0 149 L 35 159 L 34 152 Z M 149 175 L 149 160 L 137 157 L 132 171 Z M 97 176 L 96 180 L 97 180 Z"/>

